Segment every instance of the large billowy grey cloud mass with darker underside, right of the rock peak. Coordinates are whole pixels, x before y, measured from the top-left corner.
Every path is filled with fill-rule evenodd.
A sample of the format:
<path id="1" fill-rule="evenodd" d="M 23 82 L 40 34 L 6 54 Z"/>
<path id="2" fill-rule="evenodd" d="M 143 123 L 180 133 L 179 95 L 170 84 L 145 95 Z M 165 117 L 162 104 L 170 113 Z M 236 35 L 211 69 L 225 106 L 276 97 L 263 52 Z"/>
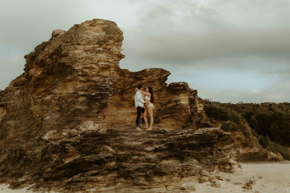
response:
<path id="1" fill-rule="evenodd" d="M 169 2 L 169 3 L 168 3 Z M 124 53 L 161 62 L 228 54 L 290 53 L 290 2 L 149 1 Z M 129 46 L 130 45 L 130 46 Z"/>

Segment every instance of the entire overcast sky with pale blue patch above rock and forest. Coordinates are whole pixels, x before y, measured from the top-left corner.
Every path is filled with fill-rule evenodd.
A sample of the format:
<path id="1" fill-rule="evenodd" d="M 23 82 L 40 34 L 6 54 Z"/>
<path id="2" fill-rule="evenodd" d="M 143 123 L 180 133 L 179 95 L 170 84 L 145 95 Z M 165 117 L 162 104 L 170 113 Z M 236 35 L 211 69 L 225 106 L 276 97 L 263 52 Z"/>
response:
<path id="1" fill-rule="evenodd" d="M 0 90 L 55 29 L 91 19 L 123 31 L 120 67 L 163 68 L 223 103 L 290 102 L 288 0 L 0 0 Z M 146 83 L 144 83 L 146 84 Z"/>

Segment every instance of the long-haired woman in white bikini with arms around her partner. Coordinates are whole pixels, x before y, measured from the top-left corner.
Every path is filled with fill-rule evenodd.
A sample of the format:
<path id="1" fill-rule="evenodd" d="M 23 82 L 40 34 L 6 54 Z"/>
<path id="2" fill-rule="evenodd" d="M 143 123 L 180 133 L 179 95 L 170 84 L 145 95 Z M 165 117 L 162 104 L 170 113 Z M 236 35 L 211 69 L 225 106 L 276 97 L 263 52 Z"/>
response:
<path id="1" fill-rule="evenodd" d="M 146 92 L 136 88 L 136 90 L 138 90 L 140 93 L 146 95 L 144 97 L 144 101 L 148 101 L 148 104 L 144 104 L 144 106 L 146 107 L 144 113 L 143 113 L 143 118 L 145 121 L 146 126 L 143 128 L 147 128 L 146 130 L 152 130 L 152 126 L 153 126 L 153 102 L 154 102 L 154 96 L 153 96 L 153 89 L 151 87 L 147 87 L 146 88 Z M 148 120 L 147 120 L 147 114 L 149 115 L 150 118 L 150 127 L 148 128 Z"/>

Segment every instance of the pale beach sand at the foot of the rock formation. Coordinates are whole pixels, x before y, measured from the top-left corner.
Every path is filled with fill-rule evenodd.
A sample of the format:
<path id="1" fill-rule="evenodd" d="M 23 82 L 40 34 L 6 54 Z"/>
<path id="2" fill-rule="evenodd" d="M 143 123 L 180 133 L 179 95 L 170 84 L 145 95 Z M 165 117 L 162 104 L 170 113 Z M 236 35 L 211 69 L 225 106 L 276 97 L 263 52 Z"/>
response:
<path id="1" fill-rule="evenodd" d="M 242 172 L 226 174 L 219 172 L 220 188 L 212 187 L 209 182 L 195 183 L 195 191 L 189 192 L 206 192 L 206 193 L 290 193 L 290 161 L 270 162 L 270 163 L 240 163 Z M 251 190 L 243 189 L 242 186 L 253 176 L 262 176 Z M 0 193 L 31 193 L 26 188 L 19 190 L 8 189 L 9 185 L 1 184 Z M 182 192 L 182 191 L 181 191 Z M 188 192 L 188 191 L 186 191 Z"/>

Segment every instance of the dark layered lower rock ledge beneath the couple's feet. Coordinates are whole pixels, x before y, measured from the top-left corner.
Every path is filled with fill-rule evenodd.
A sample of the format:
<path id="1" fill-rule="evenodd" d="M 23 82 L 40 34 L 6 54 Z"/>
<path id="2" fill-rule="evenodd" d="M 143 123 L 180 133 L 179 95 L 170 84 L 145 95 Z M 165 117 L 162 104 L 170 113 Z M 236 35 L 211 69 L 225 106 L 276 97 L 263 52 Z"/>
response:
<path id="1" fill-rule="evenodd" d="M 224 162 L 232 163 L 230 172 L 239 170 L 240 165 L 231 159 L 238 152 L 239 144 L 217 128 L 88 130 L 47 145 L 36 181 L 41 188 L 35 190 L 128 192 L 130 187 L 135 192 L 160 192 L 167 186 L 179 190 L 192 177 L 197 182 L 209 181 L 217 165 L 223 171 Z"/>

